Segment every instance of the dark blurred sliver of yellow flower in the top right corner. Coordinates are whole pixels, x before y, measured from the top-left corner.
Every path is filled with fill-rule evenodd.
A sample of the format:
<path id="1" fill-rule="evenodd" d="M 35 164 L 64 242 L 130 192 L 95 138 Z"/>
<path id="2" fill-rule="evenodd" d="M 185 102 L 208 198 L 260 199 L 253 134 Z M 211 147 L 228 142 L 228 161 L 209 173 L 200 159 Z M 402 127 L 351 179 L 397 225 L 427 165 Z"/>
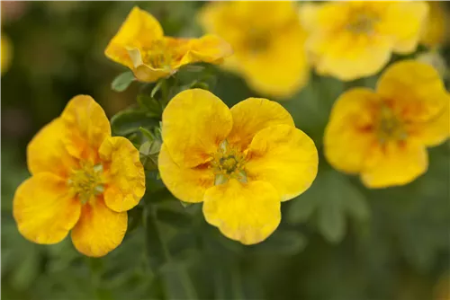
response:
<path id="1" fill-rule="evenodd" d="M 430 48 L 435 48 L 444 44 L 446 39 L 448 39 L 450 14 L 446 10 L 444 1 L 427 0 L 427 2 L 429 4 L 429 13 L 421 42 Z"/>

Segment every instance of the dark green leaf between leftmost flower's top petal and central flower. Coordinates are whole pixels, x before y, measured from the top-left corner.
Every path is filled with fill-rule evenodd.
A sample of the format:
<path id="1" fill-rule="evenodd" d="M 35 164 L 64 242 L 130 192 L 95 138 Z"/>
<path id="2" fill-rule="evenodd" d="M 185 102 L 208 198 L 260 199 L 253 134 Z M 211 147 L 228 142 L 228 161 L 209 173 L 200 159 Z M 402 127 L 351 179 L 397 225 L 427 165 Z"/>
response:
<path id="1" fill-rule="evenodd" d="M 112 133 L 121 137 L 138 132 L 141 127 L 151 128 L 158 124 L 158 120 L 153 119 L 147 111 L 137 109 L 122 110 L 111 119 Z"/>

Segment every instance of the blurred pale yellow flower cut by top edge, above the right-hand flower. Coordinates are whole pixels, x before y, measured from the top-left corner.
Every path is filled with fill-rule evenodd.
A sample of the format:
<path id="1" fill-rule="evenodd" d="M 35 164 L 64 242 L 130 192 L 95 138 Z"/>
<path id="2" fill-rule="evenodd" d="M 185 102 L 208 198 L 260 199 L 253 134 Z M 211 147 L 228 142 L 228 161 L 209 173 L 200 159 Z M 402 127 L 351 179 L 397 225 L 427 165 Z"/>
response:
<path id="1" fill-rule="evenodd" d="M 376 74 L 392 52 L 413 52 L 427 13 L 419 0 L 337 0 L 301 9 L 312 64 L 320 75 L 345 81 Z"/>

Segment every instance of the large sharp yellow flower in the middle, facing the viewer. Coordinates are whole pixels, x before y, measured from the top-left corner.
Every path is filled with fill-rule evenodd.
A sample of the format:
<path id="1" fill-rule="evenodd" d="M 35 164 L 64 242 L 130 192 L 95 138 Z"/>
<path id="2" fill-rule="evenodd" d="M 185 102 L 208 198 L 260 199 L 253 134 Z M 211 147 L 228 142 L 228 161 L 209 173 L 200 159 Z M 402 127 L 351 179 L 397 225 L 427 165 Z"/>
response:
<path id="1" fill-rule="evenodd" d="M 281 201 L 307 190 L 318 168 L 311 138 L 275 101 L 230 110 L 212 93 L 178 93 L 163 112 L 158 167 L 176 198 L 203 202 L 206 221 L 240 243 L 259 243 L 280 223 Z"/>

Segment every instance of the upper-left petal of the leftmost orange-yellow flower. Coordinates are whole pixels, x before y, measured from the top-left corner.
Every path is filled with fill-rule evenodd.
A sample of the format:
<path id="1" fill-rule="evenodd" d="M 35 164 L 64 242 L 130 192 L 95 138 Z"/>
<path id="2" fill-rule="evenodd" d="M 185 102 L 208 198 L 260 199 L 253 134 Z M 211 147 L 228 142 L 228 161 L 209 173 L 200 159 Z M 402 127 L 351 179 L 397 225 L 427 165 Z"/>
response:
<path id="1" fill-rule="evenodd" d="M 31 139 L 27 147 L 28 169 L 31 174 L 51 172 L 66 178 L 76 160 L 67 152 L 64 140 L 68 131 L 64 122 L 52 120 Z"/>

